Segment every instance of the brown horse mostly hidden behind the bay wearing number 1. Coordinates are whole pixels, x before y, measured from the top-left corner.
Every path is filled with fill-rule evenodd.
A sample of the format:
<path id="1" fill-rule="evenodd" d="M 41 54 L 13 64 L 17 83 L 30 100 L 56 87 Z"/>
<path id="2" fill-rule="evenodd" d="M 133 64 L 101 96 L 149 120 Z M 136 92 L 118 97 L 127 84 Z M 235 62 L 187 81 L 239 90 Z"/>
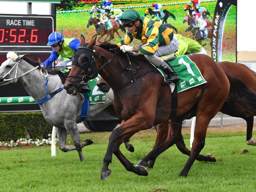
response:
<path id="1" fill-rule="evenodd" d="M 256 109 L 255 109 L 255 103 L 256 103 L 256 75 L 254 71 L 252 71 L 249 67 L 246 65 L 243 65 L 241 63 L 231 63 L 231 62 L 219 62 L 218 63 L 220 67 L 224 70 L 225 73 L 231 75 L 233 78 L 237 78 L 241 80 L 244 84 L 240 85 L 241 87 L 237 86 L 237 84 L 231 83 L 230 84 L 230 93 L 225 101 L 224 105 L 220 109 L 220 112 L 233 116 L 233 117 L 240 117 L 242 119 L 245 119 L 247 122 L 247 137 L 246 137 L 246 143 L 248 145 L 256 145 L 256 139 L 252 138 L 252 129 L 253 129 L 253 117 L 256 116 Z M 234 82 L 234 81 L 233 81 Z M 101 91 L 108 92 L 110 89 L 110 86 L 107 84 L 107 82 L 100 78 L 97 82 L 97 86 L 101 89 Z M 241 89 L 241 97 L 247 98 L 247 104 L 242 106 L 237 102 L 236 100 L 232 99 L 232 94 L 234 94 L 233 90 L 239 88 Z M 248 105 L 252 105 L 251 107 Z M 191 114 L 189 117 L 194 116 L 195 114 Z M 181 126 L 180 126 L 181 128 Z M 172 129 L 174 127 L 172 126 Z M 178 127 L 179 129 L 179 127 Z M 160 124 L 157 129 L 157 138 L 155 141 L 155 145 L 153 148 L 159 146 L 161 143 L 164 142 L 164 140 L 167 137 L 168 133 L 168 126 L 166 124 Z M 182 137 L 182 135 L 181 135 Z M 190 155 L 189 149 L 185 146 L 185 143 L 183 140 L 179 140 L 176 143 L 178 149 L 181 151 L 181 153 L 185 155 Z M 210 161 L 215 161 L 216 159 L 211 155 L 207 154 L 207 157 L 211 157 Z M 204 156 L 198 156 L 197 160 L 208 160 Z M 148 168 L 153 168 L 153 165 L 155 163 L 155 159 L 151 160 L 149 163 Z"/>

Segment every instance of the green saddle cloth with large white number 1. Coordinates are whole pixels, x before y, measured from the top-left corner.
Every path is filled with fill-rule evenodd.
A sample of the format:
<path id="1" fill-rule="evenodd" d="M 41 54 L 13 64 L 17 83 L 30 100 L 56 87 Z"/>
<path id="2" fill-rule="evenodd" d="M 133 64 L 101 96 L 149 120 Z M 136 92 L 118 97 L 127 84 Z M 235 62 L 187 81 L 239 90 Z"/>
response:
<path id="1" fill-rule="evenodd" d="M 168 62 L 168 64 L 172 66 L 173 70 L 180 78 L 177 82 L 178 93 L 207 83 L 196 66 L 196 63 L 192 62 L 192 60 L 186 55 L 176 57 L 174 60 Z M 162 75 L 164 75 L 163 70 L 159 68 L 158 70 Z"/>

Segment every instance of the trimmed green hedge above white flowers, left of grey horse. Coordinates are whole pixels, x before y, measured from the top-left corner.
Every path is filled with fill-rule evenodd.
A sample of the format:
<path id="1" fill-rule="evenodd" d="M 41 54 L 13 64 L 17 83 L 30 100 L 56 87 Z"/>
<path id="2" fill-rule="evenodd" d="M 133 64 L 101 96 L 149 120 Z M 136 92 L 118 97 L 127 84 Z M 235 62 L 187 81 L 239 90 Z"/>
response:
<path id="1" fill-rule="evenodd" d="M 48 139 L 52 126 L 45 121 L 42 112 L 0 113 L 0 141 L 19 138 Z"/>

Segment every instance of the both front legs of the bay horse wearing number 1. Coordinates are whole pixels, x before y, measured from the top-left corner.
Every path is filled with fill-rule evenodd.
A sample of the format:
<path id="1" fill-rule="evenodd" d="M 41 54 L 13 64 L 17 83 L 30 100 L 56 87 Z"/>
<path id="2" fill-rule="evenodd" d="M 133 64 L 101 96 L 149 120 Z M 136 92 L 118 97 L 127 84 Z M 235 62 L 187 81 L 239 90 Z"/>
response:
<path id="1" fill-rule="evenodd" d="M 144 168 L 135 168 L 131 162 L 129 162 L 122 154 L 119 152 L 119 146 L 123 142 L 123 140 L 127 140 L 133 134 L 138 132 L 139 130 L 146 130 L 153 125 L 153 117 L 150 118 L 148 115 L 137 112 L 133 117 L 125 121 L 120 125 L 120 127 L 113 130 L 113 132 L 109 136 L 109 142 L 107 147 L 106 155 L 103 159 L 103 166 L 101 169 L 101 180 L 107 179 L 111 170 L 108 169 L 109 164 L 112 160 L 112 154 L 114 153 L 118 159 L 121 161 L 123 166 L 128 171 L 132 171 L 138 175 L 147 175 L 147 171 Z M 131 168 L 131 166 L 133 168 Z M 144 169 L 144 172 L 142 171 Z"/>

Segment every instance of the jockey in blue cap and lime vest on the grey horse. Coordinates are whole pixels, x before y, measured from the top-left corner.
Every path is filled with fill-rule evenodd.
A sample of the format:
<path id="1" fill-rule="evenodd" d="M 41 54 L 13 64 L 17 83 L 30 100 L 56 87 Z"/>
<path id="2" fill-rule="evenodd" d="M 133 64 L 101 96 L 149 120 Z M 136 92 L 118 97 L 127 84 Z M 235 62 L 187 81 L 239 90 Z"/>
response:
<path id="1" fill-rule="evenodd" d="M 64 38 L 59 32 L 52 32 L 48 37 L 47 45 L 52 47 L 52 53 L 45 62 L 41 63 L 41 67 L 52 67 L 52 62 L 57 60 L 59 56 L 62 56 L 69 58 L 69 60 L 58 63 L 56 67 L 65 68 L 66 65 L 72 64 L 71 58 L 77 52 L 80 41 L 75 38 Z M 71 67 L 67 68 L 71 69 Z M 83 91 L 90 91 L 90 88 L 86 84 L 81 89 Z"/>

